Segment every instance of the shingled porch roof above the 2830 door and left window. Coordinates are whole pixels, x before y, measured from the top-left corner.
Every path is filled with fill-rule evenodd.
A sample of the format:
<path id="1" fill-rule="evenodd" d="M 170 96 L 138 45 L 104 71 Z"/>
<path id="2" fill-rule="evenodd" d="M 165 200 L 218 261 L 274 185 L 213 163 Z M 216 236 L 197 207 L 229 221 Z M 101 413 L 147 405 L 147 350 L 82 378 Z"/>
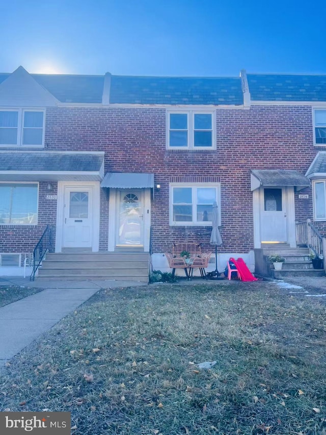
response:
<path id="1" fill-rule="evenodd" d="M 0 151 L 0 171 L 98 172 L 104 155 L 51 151 Z"/>

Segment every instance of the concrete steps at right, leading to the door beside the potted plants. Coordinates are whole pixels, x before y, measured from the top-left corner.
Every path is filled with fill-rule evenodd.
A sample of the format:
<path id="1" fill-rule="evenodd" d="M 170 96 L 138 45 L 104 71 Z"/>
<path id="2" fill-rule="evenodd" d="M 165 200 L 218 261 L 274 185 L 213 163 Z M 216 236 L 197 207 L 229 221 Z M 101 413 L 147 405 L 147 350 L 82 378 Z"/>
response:
<path id="1" fill-rule="evenodd" d="M 266 259 L 269 255 L 278 253 L 285 258 L 282 270 L 278 271 L 274 269 L 272 263 L 270 263 L 270 276 L 273 278 L 282 279 L 286 276 L 324 276 L 324 269 L 314 269 L 312 262 L 309 258 L 308 248 L 290 248 L 288 245 L 269 245 L 263 248 L 263 255 Z M 267 261 L 267 263 L 269 263 Z"/>

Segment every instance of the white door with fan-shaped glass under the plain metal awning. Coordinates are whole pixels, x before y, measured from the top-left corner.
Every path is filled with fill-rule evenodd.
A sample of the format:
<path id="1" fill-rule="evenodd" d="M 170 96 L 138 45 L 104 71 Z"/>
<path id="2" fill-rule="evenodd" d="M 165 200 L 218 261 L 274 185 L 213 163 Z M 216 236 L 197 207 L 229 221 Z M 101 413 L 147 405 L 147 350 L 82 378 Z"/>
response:
<path id="1" fill-rule="evenodd" d="M 142 190 L 121 190 L 118 196 L 116 246 L 144 245 L 144 198 Z"/>

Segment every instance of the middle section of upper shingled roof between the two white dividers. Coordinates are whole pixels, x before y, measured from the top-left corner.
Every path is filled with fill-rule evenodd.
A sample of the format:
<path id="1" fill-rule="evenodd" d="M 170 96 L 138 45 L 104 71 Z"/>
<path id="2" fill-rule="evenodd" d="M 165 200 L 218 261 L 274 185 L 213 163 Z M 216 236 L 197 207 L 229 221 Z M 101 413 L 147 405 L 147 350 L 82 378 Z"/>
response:
<path id="1" fill-rule="evenodd" d="M 110 103 L 241 105 L 241 79 L 113 75 Z"/>

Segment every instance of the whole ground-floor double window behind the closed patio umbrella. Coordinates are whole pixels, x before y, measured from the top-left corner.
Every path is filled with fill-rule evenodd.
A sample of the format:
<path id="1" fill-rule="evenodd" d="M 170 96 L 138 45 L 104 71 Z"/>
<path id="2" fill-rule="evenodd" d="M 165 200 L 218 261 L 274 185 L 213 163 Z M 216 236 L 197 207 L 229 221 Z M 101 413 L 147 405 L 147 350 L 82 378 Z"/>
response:
<path id="1" fill-rule="evenodd" d="M 170 184 L 170 225 L 211 225 L 212 207 L 215 201 L 220 210 L 220 184 Z M 219 221 L 221 225 L 220 213 Z"/>

